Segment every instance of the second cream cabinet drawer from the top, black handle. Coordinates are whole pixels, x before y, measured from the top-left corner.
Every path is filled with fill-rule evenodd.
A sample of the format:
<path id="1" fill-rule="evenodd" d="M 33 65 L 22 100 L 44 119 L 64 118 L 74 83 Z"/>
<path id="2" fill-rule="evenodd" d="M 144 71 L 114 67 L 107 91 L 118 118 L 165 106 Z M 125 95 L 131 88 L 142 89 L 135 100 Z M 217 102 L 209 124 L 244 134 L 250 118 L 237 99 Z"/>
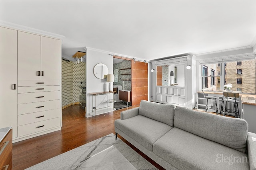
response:
<path id="1" fill-rule="evenodd" d="M 18 87 L 18 93 L 60 91 L 60 86 L 24 86 Z"/>

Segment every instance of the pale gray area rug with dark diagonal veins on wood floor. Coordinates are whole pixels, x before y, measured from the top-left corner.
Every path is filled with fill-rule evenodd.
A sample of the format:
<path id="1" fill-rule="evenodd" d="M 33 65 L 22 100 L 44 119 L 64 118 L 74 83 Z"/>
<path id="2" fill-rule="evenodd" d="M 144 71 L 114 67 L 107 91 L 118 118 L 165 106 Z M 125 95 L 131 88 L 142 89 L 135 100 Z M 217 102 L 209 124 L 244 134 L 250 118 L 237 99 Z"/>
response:
<path id="1" fill-rule="evenodd" d="M 124 157 L 138 170 L 158 170 L 140 154 L 131 149 L 121 139 L 115 140 L 115 135 L 109 134 L 100 139 L 72 149 L 68 152 L 50 158 L 44 162 L 31 166 L 27 170 L 80 170 L 80 162 L 114 145 Z"/>

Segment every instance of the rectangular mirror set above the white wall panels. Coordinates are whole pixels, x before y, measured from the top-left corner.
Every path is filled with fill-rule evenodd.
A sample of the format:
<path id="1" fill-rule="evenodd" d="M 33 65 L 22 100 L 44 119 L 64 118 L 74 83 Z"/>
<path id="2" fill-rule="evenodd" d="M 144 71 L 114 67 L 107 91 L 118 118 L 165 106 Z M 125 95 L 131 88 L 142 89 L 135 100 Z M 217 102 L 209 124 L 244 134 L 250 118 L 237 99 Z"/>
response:
<path id="1" fill-rule="evenodd" d="M 186 63 L 166 63 L 156 65 L 156 86 L 186 85 Z"/>

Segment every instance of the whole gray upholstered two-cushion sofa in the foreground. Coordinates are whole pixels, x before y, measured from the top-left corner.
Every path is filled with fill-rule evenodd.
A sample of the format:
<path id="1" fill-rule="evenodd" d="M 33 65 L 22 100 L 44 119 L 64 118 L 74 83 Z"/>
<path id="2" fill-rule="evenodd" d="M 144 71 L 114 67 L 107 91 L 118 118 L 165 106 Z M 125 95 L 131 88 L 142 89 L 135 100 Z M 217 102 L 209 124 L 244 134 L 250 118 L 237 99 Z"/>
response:
<path id="1" fill-rule="evenodd" d="M 142 100 L 115 131 L 165 169 L 256 169 L 256 134 L 244 119 Z"/>

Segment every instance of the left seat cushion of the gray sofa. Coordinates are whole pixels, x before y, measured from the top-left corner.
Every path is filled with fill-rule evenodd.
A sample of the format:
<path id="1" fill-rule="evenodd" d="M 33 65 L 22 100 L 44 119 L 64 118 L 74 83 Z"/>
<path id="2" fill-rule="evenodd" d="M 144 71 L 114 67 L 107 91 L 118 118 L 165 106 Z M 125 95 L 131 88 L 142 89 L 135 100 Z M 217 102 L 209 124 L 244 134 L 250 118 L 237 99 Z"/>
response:
<path id="1" fill-rule="evenodd" d="M 115 127 L 151 151 L 154 142 L 172 129 L 165 123 L 142 115 L 125 120 L 118 119 Z"/>

